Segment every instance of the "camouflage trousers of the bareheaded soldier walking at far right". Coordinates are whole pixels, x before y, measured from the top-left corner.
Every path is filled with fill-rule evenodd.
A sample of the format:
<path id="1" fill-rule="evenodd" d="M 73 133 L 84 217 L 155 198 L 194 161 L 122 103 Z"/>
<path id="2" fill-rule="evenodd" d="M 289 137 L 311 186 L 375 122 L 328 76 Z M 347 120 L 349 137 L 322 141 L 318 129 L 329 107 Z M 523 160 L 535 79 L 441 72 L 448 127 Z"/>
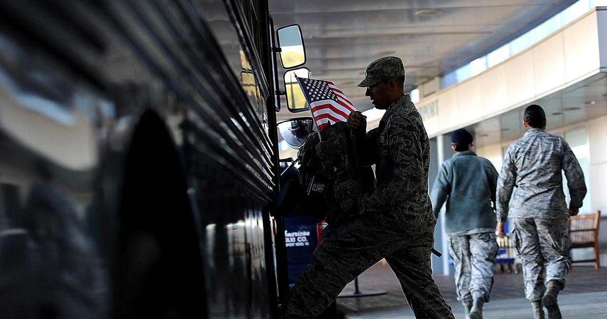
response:
<path id="1" fill-rule="evenodd" d="M 546 282 L 557 280 L 565 286 L 569 273 L 571 241 L 567 219 L 513 218 L 514 245 L 523 261 L 525 298 L 540 300 Z"/>

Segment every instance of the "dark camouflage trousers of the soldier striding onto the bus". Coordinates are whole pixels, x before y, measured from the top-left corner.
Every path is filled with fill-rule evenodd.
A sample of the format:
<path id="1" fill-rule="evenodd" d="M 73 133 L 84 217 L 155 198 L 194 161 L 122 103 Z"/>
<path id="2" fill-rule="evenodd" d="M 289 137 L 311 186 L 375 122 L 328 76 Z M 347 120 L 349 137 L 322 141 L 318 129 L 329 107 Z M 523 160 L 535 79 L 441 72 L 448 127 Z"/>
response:
<path id="1" fill-rule="evenodd" d="M 369 220 L 323 239 L 289 294 L 282 318 L 314 318 L 364 270 L 385 258 L 417 318 L 454 318 L 432 278 L 433 230 L 407 236 Z"/>

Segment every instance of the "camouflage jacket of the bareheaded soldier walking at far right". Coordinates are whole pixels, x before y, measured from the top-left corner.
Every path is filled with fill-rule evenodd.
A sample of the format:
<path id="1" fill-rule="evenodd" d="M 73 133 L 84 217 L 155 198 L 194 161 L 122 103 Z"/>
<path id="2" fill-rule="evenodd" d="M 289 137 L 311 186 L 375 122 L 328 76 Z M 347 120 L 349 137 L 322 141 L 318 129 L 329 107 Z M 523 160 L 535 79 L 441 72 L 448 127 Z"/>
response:
<path id="1" fill-rule="evenodd" d="M 529 129 L 504 156 L 497 186 L 497 220 L 568 218 L 561 170 L 571 194 L 569 207 L 582 207 L 584 173 L 567 142 L 542 129 Z M 514 187 L 517 190 L 509 204 Z"/>

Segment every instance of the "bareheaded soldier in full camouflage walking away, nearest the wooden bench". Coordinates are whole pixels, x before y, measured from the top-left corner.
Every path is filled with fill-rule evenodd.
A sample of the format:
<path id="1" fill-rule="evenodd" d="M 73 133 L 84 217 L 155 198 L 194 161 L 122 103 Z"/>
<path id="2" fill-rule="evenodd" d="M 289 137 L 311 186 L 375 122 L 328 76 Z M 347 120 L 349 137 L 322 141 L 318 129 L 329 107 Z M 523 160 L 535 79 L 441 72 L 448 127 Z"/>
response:
<path id="1" fill-rule="evenodd" d="M 567 220 L 582 207 L 584 174 L 567 142 L 544 131 L 546 114 L 540 106 L 527 107 L 523 125 L 527 132 L 508 148 L 498 179 L 497 232 L 503 236 L 504 222 L 511 218 L 515 249 L 523 260 L 525 297 L 535 318 L 544 318 L 543 307 L 548 318 L 561 318 L 557 295 L 565 287 L 571 250 Z M 561 170 L 571 195 L 569 208 Z"/>

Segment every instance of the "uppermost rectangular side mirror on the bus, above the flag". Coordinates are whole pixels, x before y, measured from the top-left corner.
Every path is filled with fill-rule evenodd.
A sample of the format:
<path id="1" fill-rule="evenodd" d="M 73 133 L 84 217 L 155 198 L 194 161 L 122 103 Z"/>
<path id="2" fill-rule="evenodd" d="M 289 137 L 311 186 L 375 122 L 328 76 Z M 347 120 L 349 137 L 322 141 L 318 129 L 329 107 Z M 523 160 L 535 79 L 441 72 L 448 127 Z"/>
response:
<path id="1" fill-rule="evenodd" d="M 280 47 L 280 61 L 285 69 L 305 64 L 304 38 L 299 24 L 292 24 L 276 31 L 278 46 Z"/>

